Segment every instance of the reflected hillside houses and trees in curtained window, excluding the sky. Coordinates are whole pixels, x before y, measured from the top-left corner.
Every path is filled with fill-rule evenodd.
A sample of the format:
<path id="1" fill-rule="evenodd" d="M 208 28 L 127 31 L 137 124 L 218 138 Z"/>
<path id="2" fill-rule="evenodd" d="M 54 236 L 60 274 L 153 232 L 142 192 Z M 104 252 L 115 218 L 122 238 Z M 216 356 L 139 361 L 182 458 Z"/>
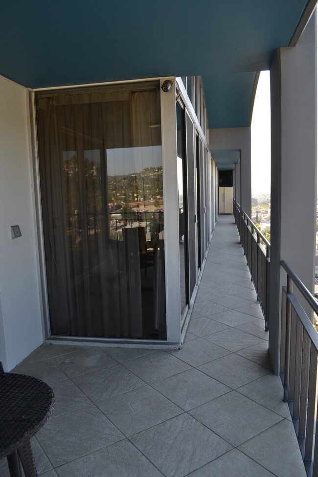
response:
<path id="1" fill-rule="evenodd" d="M 92 154 L 95 153 L 95 156 Z M 86 158 L 89 156 L 90 160 Z M 93 187 L 87 188 L 87 235 L 89 246 L 98 240 L 102 233 L 102 171 L 96 157 L 96 151 L 85 151 L 85 178 Z M 96 163 L 97 162 L 97 163 Z M 72 183 L 72 194 L 66 195 L 68 208 L 68 244 L 69 249 L 82 247 L 81 214 L 79 203 L 78 158 L 76 151 L 63 153 L 65 186 Z M 161 219 L 144 215 L 144 212 L 163 212 L 162 166 L 145 167 L 138 173 L 108 176 L 110 213 L 110 234 L 115 240 L 123 240 L 122 229 L 127 227 L 145 227 L 147 240 L 151 240 L 151 230 Z M 92 193 L 93 191 L 93 193 Z M 134 201 L 134 202 L 131 202 Z M 132 214 L 138 212 L 138 215 Z M 140 216 L 143 213 L 143 216 Z M 157 226 L 158 228 L 158 226 Z"/>

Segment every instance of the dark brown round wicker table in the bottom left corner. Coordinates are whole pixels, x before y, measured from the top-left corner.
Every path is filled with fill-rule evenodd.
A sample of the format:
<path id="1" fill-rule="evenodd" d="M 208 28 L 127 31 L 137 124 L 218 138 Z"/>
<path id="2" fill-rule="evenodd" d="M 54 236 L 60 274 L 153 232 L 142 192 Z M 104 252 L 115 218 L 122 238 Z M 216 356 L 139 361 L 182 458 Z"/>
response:
<path id="1" fill-rule="evenodd" d="M 54 394 L 46 383 L 31 376 L 0 373 L 0 459 L 7 457 L 11 477 L 36 477 L 30 439 L 54 408 Z"/>

